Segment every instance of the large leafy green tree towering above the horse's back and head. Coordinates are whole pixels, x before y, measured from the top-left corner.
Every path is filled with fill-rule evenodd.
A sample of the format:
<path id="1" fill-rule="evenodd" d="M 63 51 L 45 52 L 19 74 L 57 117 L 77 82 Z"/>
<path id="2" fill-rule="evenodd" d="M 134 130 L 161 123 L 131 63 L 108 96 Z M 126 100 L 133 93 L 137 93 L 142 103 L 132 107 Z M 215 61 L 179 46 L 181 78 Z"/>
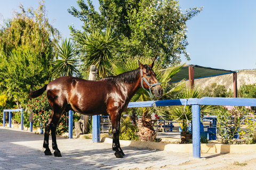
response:
<path id="1" fill-rule="evenodd" d="M 150 56 L 167 67 L 180 62 L 180 54 L 186 52 L 186 22 L 198 14 L 201 8 L 193 8 L 182 13 L 174 0 L 99 0 L 100 13 L 95 11 L 89 0 L 77 1 L 81 11 L 75 7 L 68 12 L 84 22 L 83 32 L 95 29 L 115 28 L 119 44 L 116 46 L 116 59 L 125 61 L 133 56 Z M 70 27 L 73 39 L 78 42 L 82 31 Z M 79 43 L 77 45 L 80 46 Z"/>

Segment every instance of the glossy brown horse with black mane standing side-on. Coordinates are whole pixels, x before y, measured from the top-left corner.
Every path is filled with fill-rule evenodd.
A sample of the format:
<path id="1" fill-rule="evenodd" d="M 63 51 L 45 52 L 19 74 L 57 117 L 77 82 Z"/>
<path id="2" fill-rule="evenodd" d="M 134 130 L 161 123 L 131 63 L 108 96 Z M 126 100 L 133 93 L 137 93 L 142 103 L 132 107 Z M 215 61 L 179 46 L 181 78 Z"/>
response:
<path id="1" fill-rule="evenodd" d="M 156 79 L 151 65 L 142 65 L 136 70 L 125 72 L 99 81 L 89 81 L 70 76 L 60 77 L 30 94 L 31 98 L 46 95 L 52 107 L 52 115 L 45 123 L 45 155 L 52 155 L 49 149 L 49 132 L 52 132 L 54 156 L 61 157 L 57 147 L 55 131 L 62 112 L 73 110 L 84 115 L 108 114 L 113 129 L 113 150 L 115 156 L 123 158 L 119 143 L 119 125 L 124 112 L 135 93 L 142 87 L 149 89 L 157 98 L 163 96 L 161 84 Z"/>

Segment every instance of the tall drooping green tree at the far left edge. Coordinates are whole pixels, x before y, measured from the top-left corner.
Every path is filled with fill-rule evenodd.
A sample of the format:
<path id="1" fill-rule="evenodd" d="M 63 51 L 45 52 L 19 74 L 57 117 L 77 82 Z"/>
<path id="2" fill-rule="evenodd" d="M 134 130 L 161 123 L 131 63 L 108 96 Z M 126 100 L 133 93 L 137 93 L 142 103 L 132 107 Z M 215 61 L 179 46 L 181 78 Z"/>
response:
<path id="1" fill-rule="evenodd" d="M 0 25 L 0 90 L 18 107 L 27 101 L 29 89 L 49 80 L 54 47 L 60 37 L 48 22 L 45 6 L 34 10 L 19 6 L 21 13 Z"/>

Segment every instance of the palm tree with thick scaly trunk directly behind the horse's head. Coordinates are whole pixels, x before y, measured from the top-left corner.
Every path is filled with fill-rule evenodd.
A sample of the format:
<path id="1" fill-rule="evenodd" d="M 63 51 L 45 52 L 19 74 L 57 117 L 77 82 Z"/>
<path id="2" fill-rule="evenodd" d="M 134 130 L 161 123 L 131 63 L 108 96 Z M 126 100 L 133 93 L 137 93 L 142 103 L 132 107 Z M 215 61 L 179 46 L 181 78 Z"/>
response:
<path id="1" fill-rule="evenodd" d="M 127 62 L 124 63 L 113 63 L 112 64 L 112 72 L 114 75 L 121 74 L 123 72 L 131 71 L 134 69 L 138 69 L 138 60 L 143 64 L 151 64 L 152 60 L 149 57 L 134 57 L 129 58 Z M 168 83 L 174 74 L 176 74 L 185 64 L 178 64 L 178 65 L 172 65 L 167 69 L 163 69 L 162 65 L 158 63 L 157 61 L 154 64 L 153 70 L 156 73 L 156 78 L 159 82 L 162 84 L 162 88 L 164 91 L 164 97 L 170 98 L 168 96 L 174 95 L 175 93 L 179 92 L 182 88 L 180 83 L 172 84 Z M 151 100 L 148 93 L 143 90 L 142 88 L 139 89 L 137 94 L 133 96 L 131 101 L 146 101 Z M 142 141 L 154 141 L 156 138 L 156 133 L 153 128 L 153 124 L 151 123 L 151 113 L 154 112 L 153 108 L 149 107 L 142 107 L 142 128 L 139 129 L 139 137 Z M 146 133 L 149 135 L 145 135 Z M 140 135 L 143 134 L 143 135 Z"/>

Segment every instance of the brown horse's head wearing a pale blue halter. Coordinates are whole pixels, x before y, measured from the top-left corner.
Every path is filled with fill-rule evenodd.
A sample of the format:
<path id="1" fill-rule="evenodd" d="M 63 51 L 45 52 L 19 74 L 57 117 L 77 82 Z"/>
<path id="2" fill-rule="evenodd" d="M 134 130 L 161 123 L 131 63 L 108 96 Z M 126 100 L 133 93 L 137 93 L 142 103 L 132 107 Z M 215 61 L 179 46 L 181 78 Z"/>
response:
<path id="1" fill-rule="evenodd" d="M 152 70 L 154 62 L 150 65 L 143 65 L 139 62 L 139 65 L 142 88 L 149 89 L 149 95 L 152 91 L 157 98 L 161 98 L 163 96 L 163 89 L 161 83 L 156 79 L 156 73 Z M 153 96 L 150 95 L 150 97 Z"/>

